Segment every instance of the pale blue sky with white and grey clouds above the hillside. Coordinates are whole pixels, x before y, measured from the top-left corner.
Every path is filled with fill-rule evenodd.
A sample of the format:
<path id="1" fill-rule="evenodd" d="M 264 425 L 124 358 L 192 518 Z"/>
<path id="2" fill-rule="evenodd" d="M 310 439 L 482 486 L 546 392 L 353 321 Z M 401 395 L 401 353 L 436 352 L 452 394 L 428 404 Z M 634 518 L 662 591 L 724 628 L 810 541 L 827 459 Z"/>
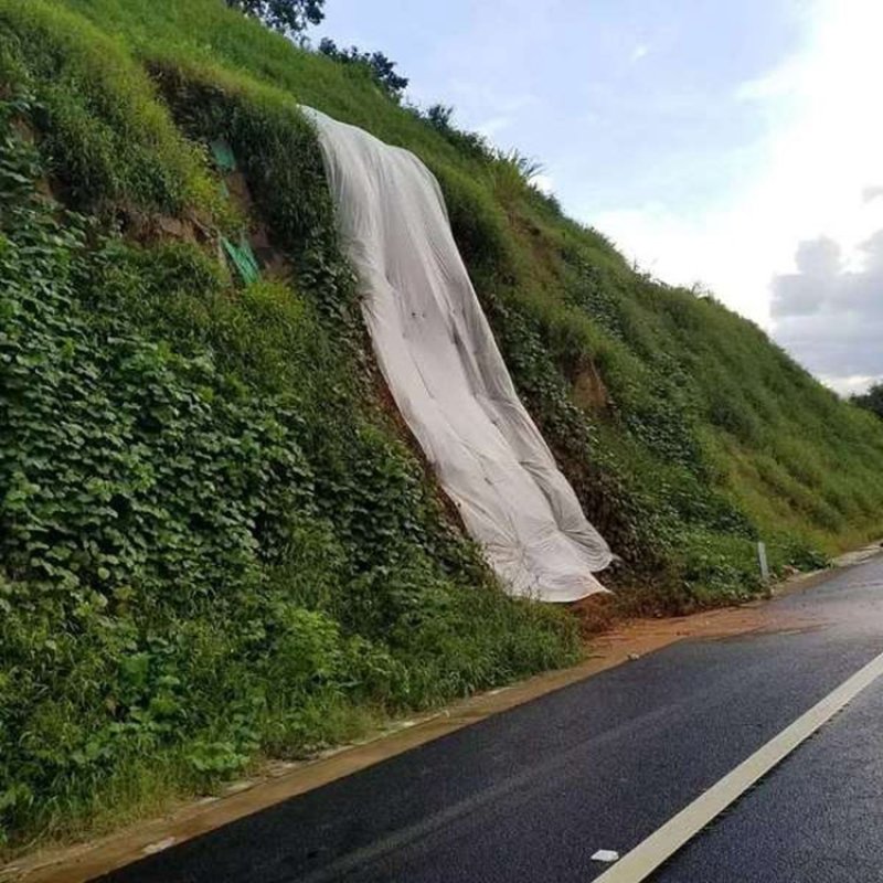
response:
<path id="1" fill-rule="evenodd" d="M 883 380 L 883 0 L 326 0 L 641 269 Z"/>

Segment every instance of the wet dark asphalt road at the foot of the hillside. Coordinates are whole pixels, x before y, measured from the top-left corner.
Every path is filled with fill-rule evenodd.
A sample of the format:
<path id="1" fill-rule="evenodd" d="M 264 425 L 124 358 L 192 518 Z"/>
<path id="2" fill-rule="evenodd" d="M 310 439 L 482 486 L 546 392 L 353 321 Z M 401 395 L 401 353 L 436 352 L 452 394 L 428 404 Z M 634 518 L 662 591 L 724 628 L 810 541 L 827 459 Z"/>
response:
<path id="1" fill-rule="evenodd" d="M 883 651 L 883 558 L 774 602 L 823 625 L 672 645 L 113 883 L 587 883 Z M 883 679 L 653 876 L 883 883 Z"/>

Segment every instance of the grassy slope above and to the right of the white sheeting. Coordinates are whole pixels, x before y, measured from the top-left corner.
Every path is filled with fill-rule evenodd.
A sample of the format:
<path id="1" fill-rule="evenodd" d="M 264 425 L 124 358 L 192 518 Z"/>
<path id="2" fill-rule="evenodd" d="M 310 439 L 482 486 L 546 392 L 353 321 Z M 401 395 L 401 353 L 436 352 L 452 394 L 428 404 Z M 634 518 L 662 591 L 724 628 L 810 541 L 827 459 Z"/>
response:
<path id="1" fill-rule="evenodd" d="M 506 163 L 489 167 L 457 150 L 361 72 L 298 52 L 213 0 L 64 4 L 149 63 L 210 77 L 223 66 L 241 84 L 272 84 L 417 152 L 442 179 L 479 294 L 534 413 L 565 461 L 571 448 L 586 460 L 574 472 L 585 466 L 614 477 L 600 482 L 606 498 L 588 488 L 583 496 L 620 554 L 636 564 L 655 549 L 663 560 L 695 550 L 706 558 L 709 533 L 752 535 L 749 521 L 785 563 L 798 546 L 833 551 L 879 531 L 879 427 L 749 322 L 635 274 L 603 236 L 560 217 Z M 515 316 L 507 319 L 509 310 Z M 533 344 L 541 352 L 531 358 Z M 599 445 L 586 457 L 585 439 L 574 437 L 582 433 L 567 425 L 573 415 L 554 403 L 556 394 L 573 398 L 574 381 L 593 371 L 606 402 L 594 402 L 583 422 L 605 435 L 607 464 Z M 605 501 L 611 490 L 623 493 L 623 507 Z M 662 523 L 620 523 L 605 511 L 629 508 L 649 508 Z"/>

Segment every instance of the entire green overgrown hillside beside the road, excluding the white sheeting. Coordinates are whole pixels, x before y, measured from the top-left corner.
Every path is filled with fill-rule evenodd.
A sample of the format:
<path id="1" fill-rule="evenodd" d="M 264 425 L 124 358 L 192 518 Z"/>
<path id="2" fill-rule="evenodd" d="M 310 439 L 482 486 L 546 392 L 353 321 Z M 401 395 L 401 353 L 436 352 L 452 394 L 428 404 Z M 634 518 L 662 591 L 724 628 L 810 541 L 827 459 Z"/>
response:
<path id="1" fill-rule="evenodd" d="M 392 407 L 299 104 L 437 175 L 621 610 L 883 532 L 883 424 L 517 160 L 217 0 L 0 0 L 0 849 L 578 658 Z"/>

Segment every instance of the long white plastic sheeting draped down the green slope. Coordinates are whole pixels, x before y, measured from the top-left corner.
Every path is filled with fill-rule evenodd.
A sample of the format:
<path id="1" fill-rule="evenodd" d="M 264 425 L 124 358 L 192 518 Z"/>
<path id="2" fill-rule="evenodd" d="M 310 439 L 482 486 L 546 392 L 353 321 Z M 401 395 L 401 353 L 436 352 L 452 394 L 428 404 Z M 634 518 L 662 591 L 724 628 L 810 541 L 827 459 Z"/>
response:
<path id="1" fill-rule="evenodd" d="M 610 550 L 515 393 L 437 181 L 409 151 L 304 109 L 381 371 L 467 530 L 511 594 L 606 591 L 592 573 Z"/>

